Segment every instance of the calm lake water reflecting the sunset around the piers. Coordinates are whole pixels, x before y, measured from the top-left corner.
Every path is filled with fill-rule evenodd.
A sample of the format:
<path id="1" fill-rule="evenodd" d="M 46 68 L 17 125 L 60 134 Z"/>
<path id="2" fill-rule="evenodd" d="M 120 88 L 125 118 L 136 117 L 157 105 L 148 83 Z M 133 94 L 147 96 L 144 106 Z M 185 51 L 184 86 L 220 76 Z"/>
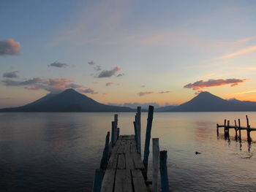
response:
<path id="1" fill-rule="evenodd" d="M 135 114 L 118 115 L 121 134 L 133 134 Z M 172 191 L 256 191 L 256 131 L 251 144 L 246 131 L 241 142 L 233 131 L 230 139 L 222 128 L 216 134 L 216 123 L 245 125 L 245 115 L 256 127 L 256 112 L 154 114 L 151 137 L 167 150 Z M 91 191 L 111 120 L 113 113 L 0 113 L 0 191 Z"/>

